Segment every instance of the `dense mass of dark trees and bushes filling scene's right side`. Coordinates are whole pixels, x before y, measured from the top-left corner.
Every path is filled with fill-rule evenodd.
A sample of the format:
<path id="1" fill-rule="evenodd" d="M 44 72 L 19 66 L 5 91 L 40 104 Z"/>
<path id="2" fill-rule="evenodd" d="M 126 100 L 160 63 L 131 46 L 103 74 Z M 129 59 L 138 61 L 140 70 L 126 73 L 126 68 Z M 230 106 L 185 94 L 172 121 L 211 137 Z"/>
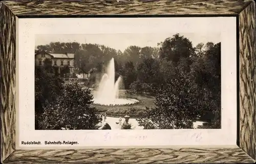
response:
<path id="1" fill-rule="evenodd" d="M 148 109 L 139 124 L 145 129 L 193 128 L 200 119 L 209 122 L 203 128 L 220 128 L 220 62 L 220 43 L 193 48 L 186 38 L 167 38 L 160 47 L 164 83 L 158 88 L 156 107 Z"/>

